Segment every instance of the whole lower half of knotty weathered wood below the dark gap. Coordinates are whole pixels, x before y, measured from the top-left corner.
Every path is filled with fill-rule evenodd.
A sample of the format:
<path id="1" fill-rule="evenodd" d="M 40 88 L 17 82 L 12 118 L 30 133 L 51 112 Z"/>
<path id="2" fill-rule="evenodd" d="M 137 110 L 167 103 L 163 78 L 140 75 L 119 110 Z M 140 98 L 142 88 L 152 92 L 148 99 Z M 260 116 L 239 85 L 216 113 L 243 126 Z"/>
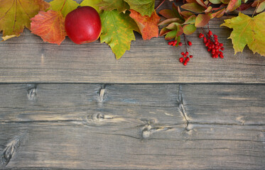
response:
<path id="1" fill-rule="evenodd" d="M 265 86 L 2 84 L 3 169 L 263 169 Z"/>

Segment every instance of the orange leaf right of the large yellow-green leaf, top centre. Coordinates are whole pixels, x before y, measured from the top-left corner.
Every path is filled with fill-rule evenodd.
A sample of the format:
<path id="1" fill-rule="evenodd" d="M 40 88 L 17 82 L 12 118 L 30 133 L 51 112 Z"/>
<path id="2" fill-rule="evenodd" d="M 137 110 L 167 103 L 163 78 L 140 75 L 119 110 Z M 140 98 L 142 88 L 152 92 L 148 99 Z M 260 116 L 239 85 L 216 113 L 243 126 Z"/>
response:
<path id="1" fill-rule="evenodd" d="M 160 17 L 153 11 L 152 15 L 141 16 L 141 14 L 133 9 L 130 10 L 130 17 L 134 19 L 140 29 L 144 40 L 150 40 L 153 37 L 158 37 L 158 23 Z"/>

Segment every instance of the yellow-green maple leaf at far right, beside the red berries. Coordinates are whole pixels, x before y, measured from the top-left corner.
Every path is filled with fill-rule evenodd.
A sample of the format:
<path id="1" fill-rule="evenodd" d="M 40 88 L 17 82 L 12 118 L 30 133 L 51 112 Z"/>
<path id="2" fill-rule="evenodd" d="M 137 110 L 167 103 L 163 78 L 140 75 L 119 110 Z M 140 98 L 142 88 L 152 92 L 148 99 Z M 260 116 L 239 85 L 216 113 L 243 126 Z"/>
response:
<path id="1" fill-rule="evenodd" d="M 242 52 L 246 45 L 252 52 L 265 56 L 265 13 L 249 17 L 243 13 L 225 20 L 221 26 L 233 28 L 230 35 L 234 46 L 234 54 Z"/>

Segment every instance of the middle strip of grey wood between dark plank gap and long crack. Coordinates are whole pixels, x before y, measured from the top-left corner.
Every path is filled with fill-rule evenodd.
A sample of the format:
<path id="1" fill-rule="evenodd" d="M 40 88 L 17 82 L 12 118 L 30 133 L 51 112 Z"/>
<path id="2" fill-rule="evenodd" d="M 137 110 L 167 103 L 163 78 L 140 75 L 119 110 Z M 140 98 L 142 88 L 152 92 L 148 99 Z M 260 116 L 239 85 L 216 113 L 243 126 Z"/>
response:
<path id="1" fill-rule="evenodd" d="M 265 124 L 265 86 L 258 85 L 1 84 L 0 96 L 4 123 L 82 121 L 111 113 L 146 115 L 134 118 L 140 124 L 153 116 L 163 124 Z"/>

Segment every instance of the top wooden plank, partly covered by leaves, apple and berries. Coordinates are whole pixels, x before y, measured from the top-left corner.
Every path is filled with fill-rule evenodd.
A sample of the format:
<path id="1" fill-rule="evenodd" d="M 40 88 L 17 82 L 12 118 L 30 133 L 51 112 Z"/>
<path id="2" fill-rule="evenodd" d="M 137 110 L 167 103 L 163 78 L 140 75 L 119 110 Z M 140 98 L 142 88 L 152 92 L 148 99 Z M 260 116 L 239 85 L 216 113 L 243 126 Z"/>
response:
<path id="1" fill-rule="evenodd" d="M 224 17 L 227 18 L 227 17 Z M 225 44 L 225 59 L 212 59 L 198 33 L 188 36 L 195 57 L 184 67 L 178 62 L 185 47 L 171 47 L 163 37 L 142 40 L 136 33 L 121 60 L 99 40 L 75 45 L 68 38 L 62 45 L 43 42 L 25 30 L 19 38 L 0 43 L 2 83 L 265 83 L 265 58 L 244 50 L 234 56 L 231 30 L 221 19 L 210 22 L 213 33 Z"/>

